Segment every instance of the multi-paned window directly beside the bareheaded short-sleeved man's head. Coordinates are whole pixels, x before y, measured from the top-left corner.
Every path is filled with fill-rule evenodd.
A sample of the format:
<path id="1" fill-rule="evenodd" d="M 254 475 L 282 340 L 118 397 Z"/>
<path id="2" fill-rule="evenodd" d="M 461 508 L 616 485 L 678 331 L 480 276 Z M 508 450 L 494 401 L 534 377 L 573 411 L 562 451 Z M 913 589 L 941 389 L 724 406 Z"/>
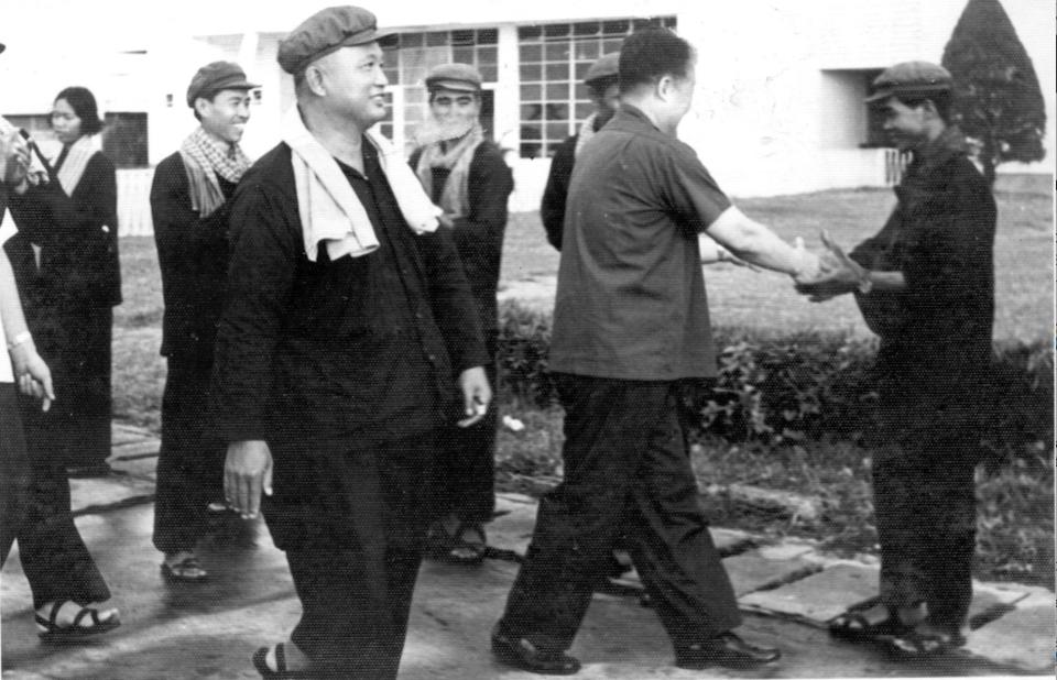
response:
<path id="1" fill-rule="evenodd" d="M 600 56 L 645 25 L 675 28 L 675 17 L 552 23 L 517 29 L 521 156 L 545 157 L 574 134 L 592 107 L 582 79 Z"/>

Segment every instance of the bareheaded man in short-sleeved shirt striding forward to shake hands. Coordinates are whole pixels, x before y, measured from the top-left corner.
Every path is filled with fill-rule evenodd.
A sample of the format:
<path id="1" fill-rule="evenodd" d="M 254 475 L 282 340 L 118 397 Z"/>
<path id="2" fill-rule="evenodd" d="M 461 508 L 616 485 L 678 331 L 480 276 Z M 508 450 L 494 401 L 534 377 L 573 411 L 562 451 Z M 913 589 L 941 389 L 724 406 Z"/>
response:
<path id="1" fill-rule="evenodd" d="M 551 346 L 565 479 L 541 501 L 492 650 L 533 672 L 577 672 L 565 650 L 624 531 L 676 665 L 754 668 L 781 654 L 733 632 L 741 616 L 679 417 L 685 381 L 716 375 L 698 232 L 797 281 L 818 257 L 742 215 L 676 139 L 696 83 L 686 41 L 667 29 L 632 34 L 619 78 L 620 110 L 585 145 L 569 186 Z"/>

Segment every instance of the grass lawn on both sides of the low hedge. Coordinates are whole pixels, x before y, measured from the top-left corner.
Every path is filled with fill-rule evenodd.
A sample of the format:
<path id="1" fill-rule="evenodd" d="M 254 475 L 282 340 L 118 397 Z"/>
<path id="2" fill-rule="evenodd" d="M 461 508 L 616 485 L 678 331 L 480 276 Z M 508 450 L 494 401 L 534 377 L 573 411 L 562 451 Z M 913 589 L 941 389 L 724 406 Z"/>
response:
<path id="1" fill-rule="evenodd" d="M 995 243 L 995 339 L 1050 341 L 1054 332 L 1053 202 L 1048 194 L 999 193 Z M 749 216 L 787 239 L 802 235 L 809 248 L 828 229 L 850 246 L 876 231 L 893 205 L 891 191 L 840 190 L 738 201 Z M 115 315 L 115 410 L 119 420 L 160 429 L 159 409 L 165 364 L 161 347 L 162 297 L 153 239 L 121 240 L 124 304 Z M 557 272 L 558 254 L 547 244 L 535 213 L 511 216 L 501 286 L 543 282 Z M 847 331 L 867 336 L 850 298 L 810 305 L 786 278 L 730 265 L 706 268 L 712 322 L 785 333 L 797 330 Z M 552 300 L 537 304 L 549 309 Z M 538 493 L 560 475 L 560 409 L 528 407 L 511 398 L 504 413 L 525 421 L 521 432 L 500 432 L 498 484 Z M 1051 449 L 1050 449 L 1051 451 Z M 825 512 L 814 523 L 747 513 L 722 502 L 708 507 L 715 524 L 774 535 L 819 539 L 830 549 L 871 552 L 876 542 L 869 486 L 870 451 L 847 442 L 810 442 L 776 450 L 705 440 L 694 464 L 702 486 L 740 482 L 821 498 Z M 1012 578 L 1053 588 L 1053 468 L 1011 468 L 978 485 L 981 507 L 981 578 Z"/>

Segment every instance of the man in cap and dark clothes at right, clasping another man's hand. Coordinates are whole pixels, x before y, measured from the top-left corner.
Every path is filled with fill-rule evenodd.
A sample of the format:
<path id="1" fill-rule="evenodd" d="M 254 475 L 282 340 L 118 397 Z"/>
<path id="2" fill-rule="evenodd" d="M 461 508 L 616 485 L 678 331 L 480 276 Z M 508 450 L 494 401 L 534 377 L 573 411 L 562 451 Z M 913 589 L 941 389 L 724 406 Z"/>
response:
<path id="1" fill-rule="evenodd" d="M 880 597 L 830 630 L 884 638 L 902 654 L 965 643 L 976 548 L 973 473 L 989 394 L 994 317 L 995 204 L 950 124 L 951 78 L 908 62 L 873 83 L 867 101 L 913 161 L 884 227 L 844 255 L 829 242 L 827 272 L 798 286 L 821 301 L 854 293 L 881 337 L 882 432 L 873 457 L 881 544 Z"/>

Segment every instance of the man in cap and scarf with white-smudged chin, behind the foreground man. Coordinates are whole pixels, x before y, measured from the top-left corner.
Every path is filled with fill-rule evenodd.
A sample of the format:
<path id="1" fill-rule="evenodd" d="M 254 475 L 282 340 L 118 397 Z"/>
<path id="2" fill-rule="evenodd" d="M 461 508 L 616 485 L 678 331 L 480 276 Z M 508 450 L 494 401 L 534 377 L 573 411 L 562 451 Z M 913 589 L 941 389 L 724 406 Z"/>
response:
<path id="1" fill-rule="evenodd" d="M 429 119 L 416 133 L 422 144 L 411 156 L 418 180 L 444 213 L 477 304 L 495 391 L 499 312 L 495 293 L 506 229 L 506 199 L 514 188 L 503 154 L 481 129 L 481 75 L 467 64 L 443 64 L 426 76 Z M 435 557 L 457 563 L 484 558 L 484 524 L 495 497 L 495 413 L 471 427 L 450 425 L 440 432 L 434 470 L 436 512 L 429 530 Z"/>

